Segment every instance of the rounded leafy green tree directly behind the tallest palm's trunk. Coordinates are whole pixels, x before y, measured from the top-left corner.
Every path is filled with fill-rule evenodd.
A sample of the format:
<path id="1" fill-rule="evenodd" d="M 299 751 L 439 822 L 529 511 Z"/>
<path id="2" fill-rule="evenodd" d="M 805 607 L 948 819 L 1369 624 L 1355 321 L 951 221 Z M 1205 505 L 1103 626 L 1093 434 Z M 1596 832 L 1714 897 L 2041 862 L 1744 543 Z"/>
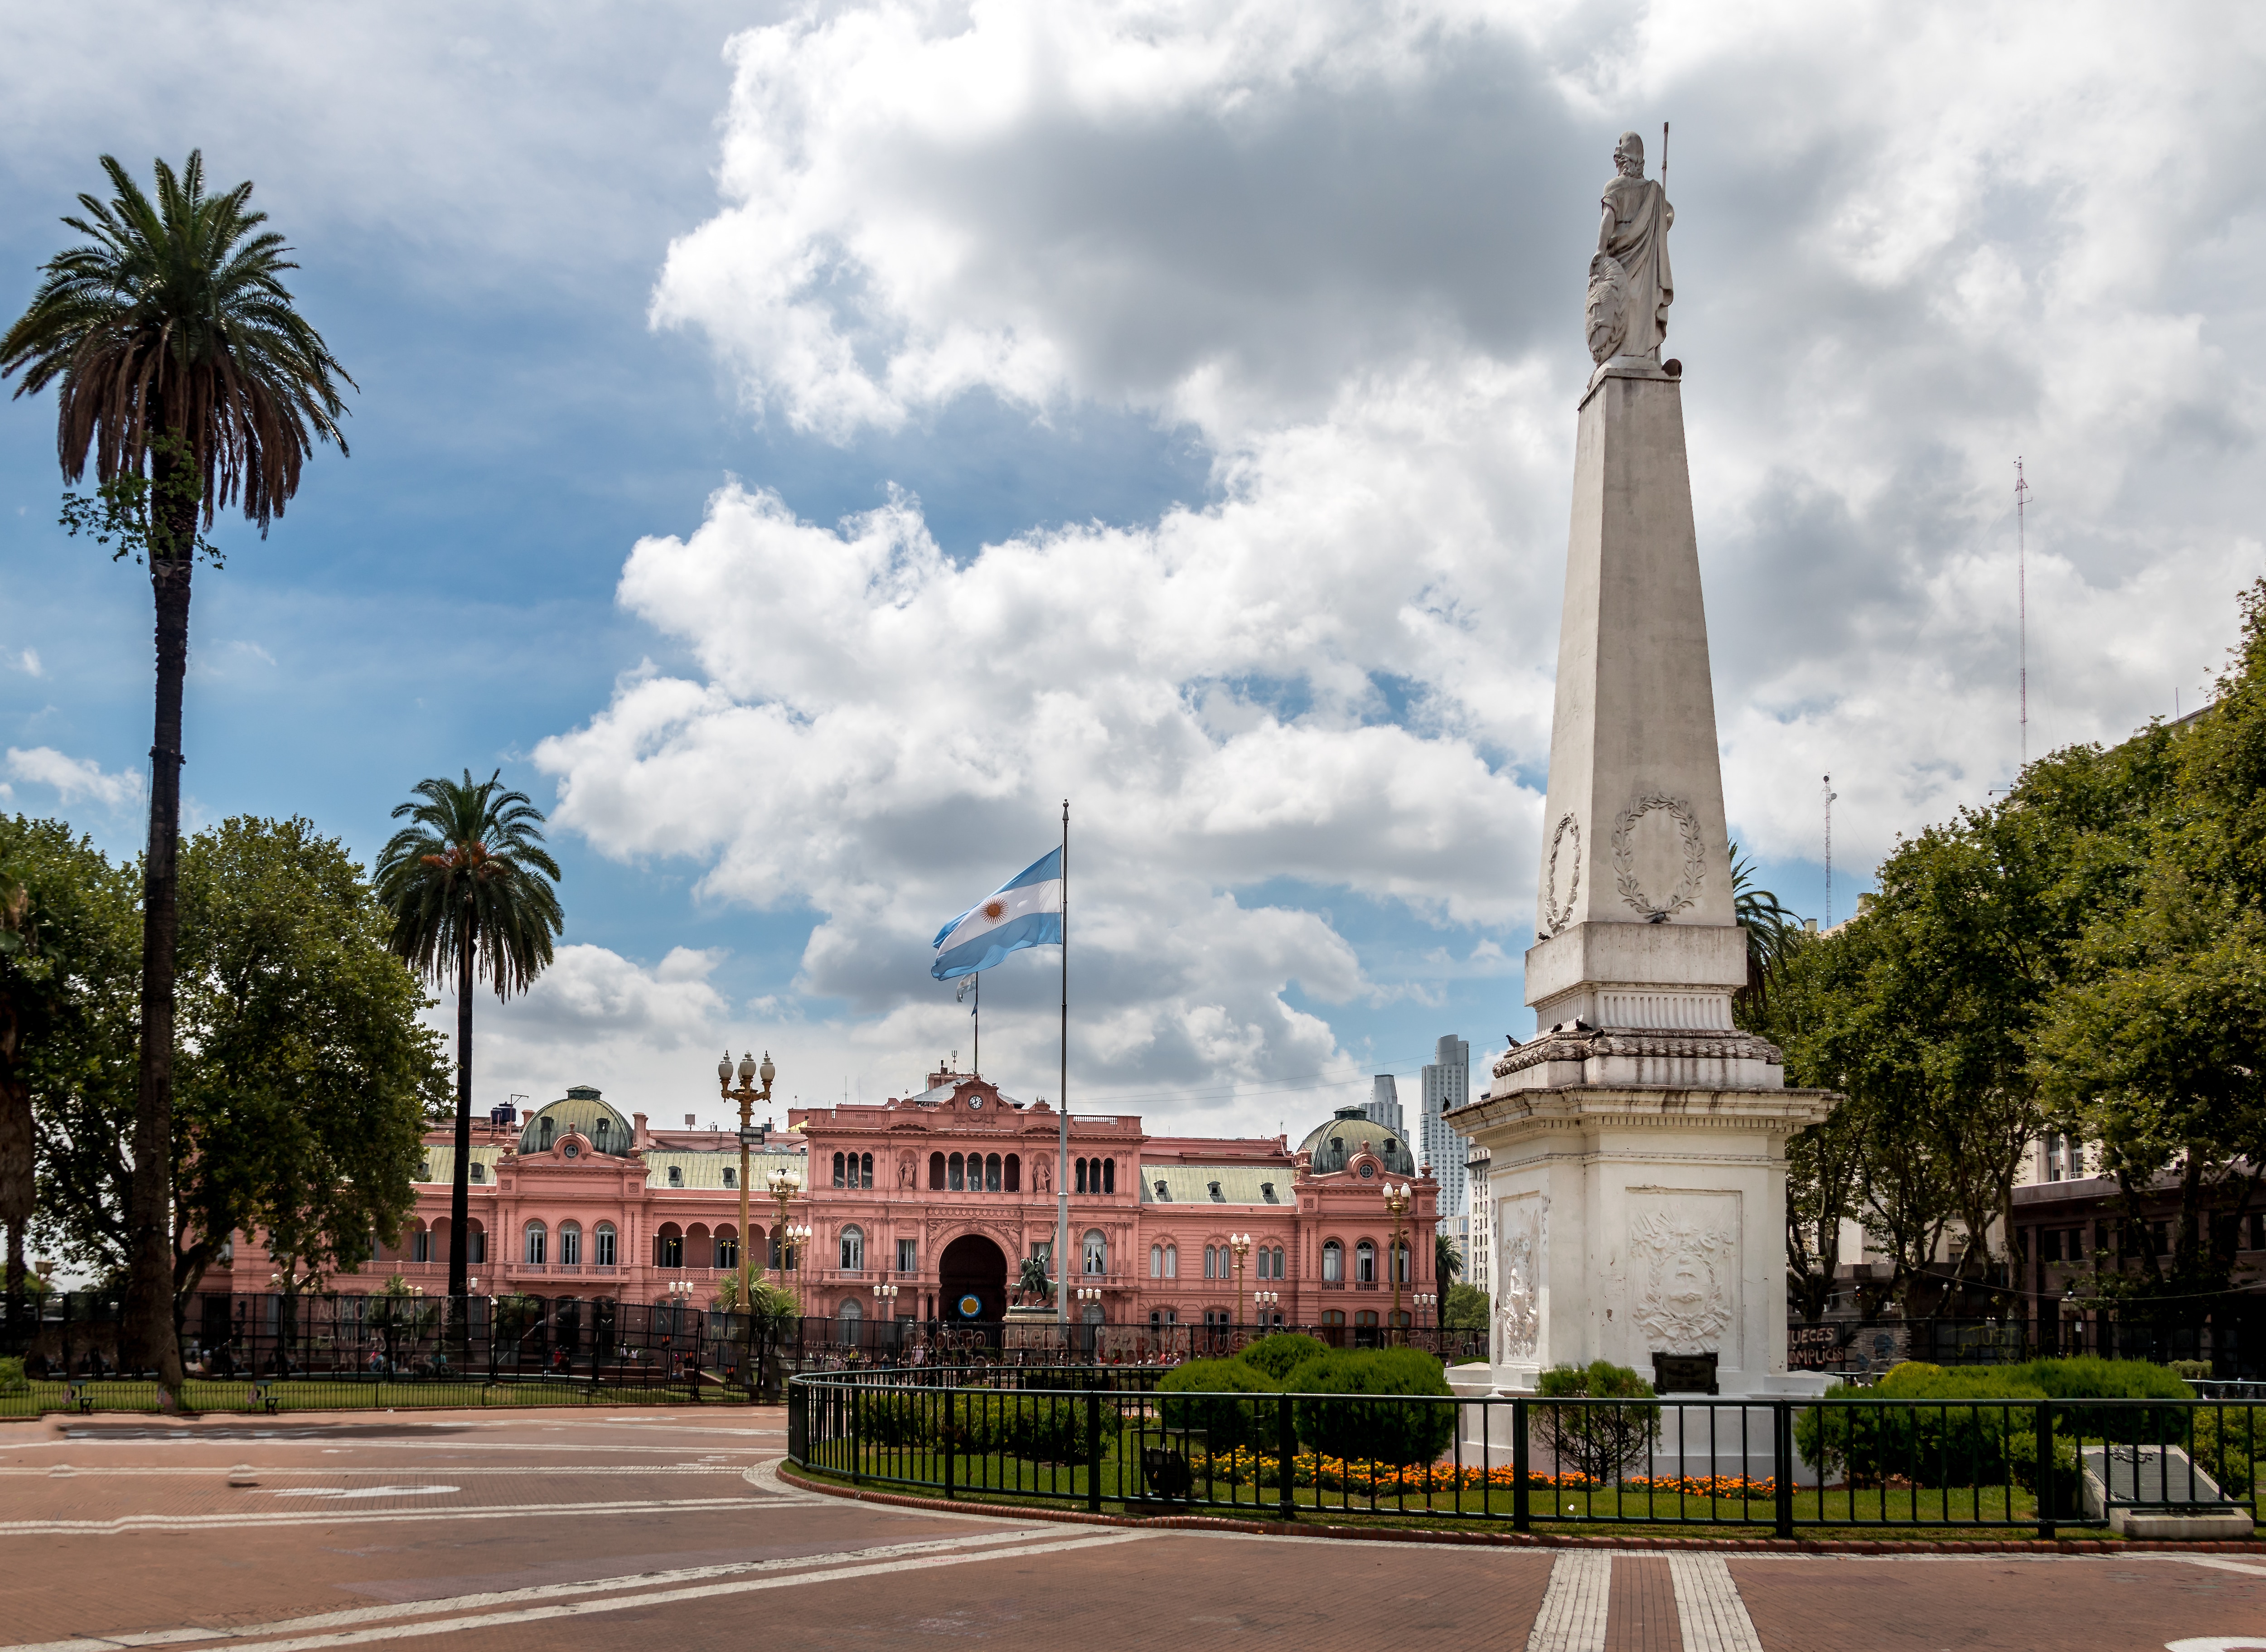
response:
<path id="1" fill-rule="evenodd" d="M 172 1314 L 238 1231 L 267 1235 L 292 1289 L 358 1271 L 374 1237 L 399 1233 L 446 1076 L 385 931 L 360 868 L 306 820 L 236 818 L 188 841 Z M 39 1097 L 41 1219 L 91 1271 L 129 1260 L 134 1178 L 120 1151 L 134 959 L 113 943 L 100 963 L 113 977 L 84 981 L 84 1047 L 48 1051 L 54 1081 Z"/>

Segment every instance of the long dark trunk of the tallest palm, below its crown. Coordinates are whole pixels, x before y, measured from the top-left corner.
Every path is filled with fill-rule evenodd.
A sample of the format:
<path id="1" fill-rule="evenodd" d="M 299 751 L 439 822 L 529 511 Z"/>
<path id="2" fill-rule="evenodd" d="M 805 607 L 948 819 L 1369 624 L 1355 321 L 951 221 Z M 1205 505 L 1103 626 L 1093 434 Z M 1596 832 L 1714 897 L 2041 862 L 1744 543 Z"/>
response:
<path id="1" fill-rule="evenodd" d="M 190 505 L 195 510 L 195 505 Z M 195 517 L 190 519 L 195 530 Z M 181 1385 L 172 1296 L 172 993 L 179 931 L 181 680 L 188 675 L 190 557 L 152 546 L 156 591 L 156 739 L 150 746 L 150 852 L 143 861 L 140 1085 L 134 1099 L 134 1183 L 127 1199 L 122 1364 Z"/>

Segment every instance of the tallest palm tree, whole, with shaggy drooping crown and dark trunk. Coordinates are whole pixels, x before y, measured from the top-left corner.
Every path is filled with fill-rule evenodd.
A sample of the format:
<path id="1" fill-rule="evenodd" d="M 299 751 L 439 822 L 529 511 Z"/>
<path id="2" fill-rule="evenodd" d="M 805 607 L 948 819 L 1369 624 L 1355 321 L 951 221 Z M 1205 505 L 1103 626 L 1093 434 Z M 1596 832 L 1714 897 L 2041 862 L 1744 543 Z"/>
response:
<path id="1" fill-rule="evenodd" d="M 156 739 L 150 750 L 150 852 L 143 863 L 140 1079 L 127 1210 L 122 1355 L 181 1380 L 172 1323 L 172 999 L 174 857 L 181 836 L 181 678 L 188 671 L 188 576 L 202 508 L 242 503 L 267 533 L 299 492 L 315 442 L 347 440 L 340 385 L 353 378 L 292 308 L 297 270 L 252 184 L 204 193 L 195 150 L 179 174 L 156 163 L 152 199 L 102 156 L 113 199 L 79 195 L 63 224 L 86 245 L 48 261 L 32 306 L 0 338 L 0 378 L 16 394 L 57 388 L 63 478 L 118 487 L 140 478 L 140 551 L 156 596 Z M 116 501 L 116 496 L 113 496 Z"/>

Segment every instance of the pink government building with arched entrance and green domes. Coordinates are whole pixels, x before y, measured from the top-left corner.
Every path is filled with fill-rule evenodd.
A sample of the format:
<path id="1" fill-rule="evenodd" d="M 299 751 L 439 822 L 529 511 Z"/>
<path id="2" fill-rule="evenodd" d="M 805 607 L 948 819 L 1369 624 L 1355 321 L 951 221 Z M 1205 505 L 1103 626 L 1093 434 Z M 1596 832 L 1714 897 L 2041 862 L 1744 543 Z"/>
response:
<path id="1" fill-rule="evenodd" d="M 775 1269 L 770 1178 L 786 1169 L 802 1183 L 786 1224 L 809 1228 L 791 1274 L 804 1314 L 999 1319 L 1022 1258 L 1054 1249 L 1054 1108 L 940 1070 L 913 1097 L 793 1108 L 786 1133 L 750 1153 L 748 1237 Z M 442 1124 L 401 1244 L 333 1289 L 378 1289 L 390 1274 L 444 1289 L 453 1169 Z M 1398 1260 L 1387 1183 L 1412 1183 Z M 1088 1323 L 1385 1326 L 1396 1269 L 1400 1323 L 1416 1323 L 1412 1296 L 1441 1289 L 1437 1210 L 1432 1169 L 1360 1108 L 1296 1149 L 1285 1135 L 1147 1135 L 1133 1115 L 1070 1119 L 1070 1283 L 1099 1292 L 1076 1298 Z M 623 1117 L 576 1085 L 523 1122 L 474 1124 L 471 1212 L 480 1294 L 659 1303 L 689 1285 L 707 1301 L 739 1267 L 739 1142 Z M 1228 1235 L 1251 1235 L 1240 1287 Z M 1255 1292 L 1276 1301 L 1255 1305 Z"/>

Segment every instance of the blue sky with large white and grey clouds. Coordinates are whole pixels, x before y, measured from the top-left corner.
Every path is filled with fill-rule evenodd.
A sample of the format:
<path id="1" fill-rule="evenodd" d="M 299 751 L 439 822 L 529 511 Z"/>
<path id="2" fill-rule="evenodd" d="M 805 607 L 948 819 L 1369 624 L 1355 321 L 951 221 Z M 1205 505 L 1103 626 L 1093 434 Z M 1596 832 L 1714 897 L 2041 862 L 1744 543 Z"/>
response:
<path id="1" fill-rule="evenodd" d="M 1072 1099 L 1303 1129 L 1525 1036 L 1582 286 L 1675 127 L 1731 832 L 1835 909 L 2193 707 L 2261 573 L 2266 16 L 1976 5 L 79 5 L 0 14 L 0 304 L 202 145 L 360 381 L 199 573 L 193 823 L 551 811 L 478 1085 L 904 1092 L 938 922 L 1072 800 Z M 1654 156 L 1656 159 L 1656 156 Z M 0 807 L 138 838 L 150 596 L 0 403 Z M 1054 1095 L 1054 954 L 983 1067 Z"/>

